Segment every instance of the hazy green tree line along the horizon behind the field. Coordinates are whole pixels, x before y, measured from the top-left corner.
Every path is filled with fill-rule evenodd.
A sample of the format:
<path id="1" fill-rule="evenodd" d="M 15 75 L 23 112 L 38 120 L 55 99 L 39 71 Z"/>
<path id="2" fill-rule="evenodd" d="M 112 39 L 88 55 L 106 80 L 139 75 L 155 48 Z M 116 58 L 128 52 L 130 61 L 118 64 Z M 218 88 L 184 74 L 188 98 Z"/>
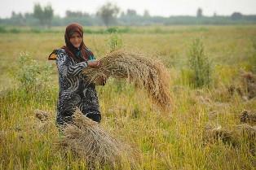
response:
<path id="1" fill-rule="evenodd" d="M 121 11 L 111 2 L 105 3 L 95 14 L 82 11 L 66 11 L 64 17 L 54 15 L 51 5 L 42 7 L 35 4 L 32 13 L 11 13 L 10 18 L 0 19 L 1 25 L 15 26 L 41 26 L 50 28 L 51 26 L 64 26 L 71 22 L 78 22 L 87 26 L 94 25 L 151 25 L 151 24 L 255 24 L 256 15 L 242 15 L 241 12 L 233 12 L 232 15 L 203 15 L 203 10 L 198 8 L 195 16 L 152 16 L 149 11 L 144 11 L 143 15 L 137 14 L 133 9 Z"/>

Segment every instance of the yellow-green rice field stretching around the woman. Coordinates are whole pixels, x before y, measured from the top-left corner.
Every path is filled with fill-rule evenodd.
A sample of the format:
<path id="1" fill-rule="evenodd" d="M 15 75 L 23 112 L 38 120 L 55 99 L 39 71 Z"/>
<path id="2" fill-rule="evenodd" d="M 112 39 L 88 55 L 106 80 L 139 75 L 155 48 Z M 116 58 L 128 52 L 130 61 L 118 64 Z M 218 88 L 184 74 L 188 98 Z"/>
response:
<path id="1" fill-rule="evenodd" d="M 58 75 L 55 62 L 46 59 L 64 45 L 64 28 L 53 29 L 58 31 L 0 33 L 0 169 L 87 169 L 85 159 L 56 147 L 60 141 L 55 127 Z M 241 72 L 255 74 L 256 25 L 131 30 L 134 32 L 115 37 L 85 34 L 84 41 L 97 59 L 104 59 L 113 48 L 112 41 L 117 40 L 118 48 L 144 54 L 166 66 L 171 111 L 162 111 L 148 98 L 147 90 L 129 82 L 109 79 L 106 85 L 97 86 L 103 118 L 100 125 L 139 151 L 136 169 L 256 169 L 255 124 L 245 126 L 253 129 L 252 135 L 242 133 L 235 145 L 224 141 L 225 136 L 218 135 L 210 142 L 205 138 L 213 132 L 228 135 L 237 126 L 244 127 L 241 113 L 256 112 L 256 100 L 246 97 L 248 84 L 241 76 Z M 195 38 L 201 39 L 210 59 L 209 87 L 189 84 L 188 54 Z M 34 61 L 20 65 L 20 53 L 29 54 Z M 51 74 L 46 74 L 49 70 L 41 67 L 43 64 L 51 66 Z M 20 72 L 30 66 L 39 73 L 29 76 L 36 81 L 24 89 Z M 39 120 L 36 110 L 46 111 L 46 120 Z M 124 169 L 131 168 L 127 165 Z"/>

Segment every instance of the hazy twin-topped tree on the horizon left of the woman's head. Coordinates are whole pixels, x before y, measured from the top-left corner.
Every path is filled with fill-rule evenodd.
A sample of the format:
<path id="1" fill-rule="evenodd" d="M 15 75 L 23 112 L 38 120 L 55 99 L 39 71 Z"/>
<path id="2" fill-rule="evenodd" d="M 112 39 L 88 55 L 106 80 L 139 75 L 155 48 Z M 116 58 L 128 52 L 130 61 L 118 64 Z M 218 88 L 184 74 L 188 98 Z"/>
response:
<path id="1" fill-rule="evenodd" d="M 39 3 L 33 7 L 33 16 L 40 21 L 42 26 L 51 26 L 51 20 L 53 17 L 53 9 L 51 5 L 47 5 L 42 9 Z"/>

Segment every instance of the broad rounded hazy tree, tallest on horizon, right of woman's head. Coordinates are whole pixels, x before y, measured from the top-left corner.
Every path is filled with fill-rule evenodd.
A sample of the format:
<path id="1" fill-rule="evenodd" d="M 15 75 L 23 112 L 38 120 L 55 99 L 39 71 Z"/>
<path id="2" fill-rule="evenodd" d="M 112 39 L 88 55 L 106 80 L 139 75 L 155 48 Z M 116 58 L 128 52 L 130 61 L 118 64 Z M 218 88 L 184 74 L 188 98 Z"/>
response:
<path id="1" fill-rule="evenodd" d="M 119 7 L 111 2 L 107 2 L 99 8 L 96 15 L 99 15 L 99 17 L 104 21 L 104 24 L 108 27 L 114 20 L 117 19 L 119 11 Z"/>

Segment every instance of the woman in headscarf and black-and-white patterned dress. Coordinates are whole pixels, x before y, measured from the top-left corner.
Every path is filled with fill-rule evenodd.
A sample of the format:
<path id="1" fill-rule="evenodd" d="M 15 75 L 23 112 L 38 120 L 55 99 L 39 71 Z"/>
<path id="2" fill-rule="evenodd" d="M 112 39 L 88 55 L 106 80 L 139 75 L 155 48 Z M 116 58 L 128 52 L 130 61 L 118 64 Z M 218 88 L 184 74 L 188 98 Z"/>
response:
<path id="1" fill-rule="evenodd" d="M 78 107 L 82 113 L 96 122 L 100 122 L 99 100 L 95 84 L 85 81 L 82 70 L 88 67 L 99 68 L 99 60 L 87 48 L 83 41 L 83 31 L 80 24 L 69 24 L 65 31 L 66 46 L 54 50 L 49 59 L 55 59 L 58 72 L 60 92 L 57 102 L 56 124 L 73 122 L 73 113 Z M 104 85 L 102 80 L 102 85 Z"/>

